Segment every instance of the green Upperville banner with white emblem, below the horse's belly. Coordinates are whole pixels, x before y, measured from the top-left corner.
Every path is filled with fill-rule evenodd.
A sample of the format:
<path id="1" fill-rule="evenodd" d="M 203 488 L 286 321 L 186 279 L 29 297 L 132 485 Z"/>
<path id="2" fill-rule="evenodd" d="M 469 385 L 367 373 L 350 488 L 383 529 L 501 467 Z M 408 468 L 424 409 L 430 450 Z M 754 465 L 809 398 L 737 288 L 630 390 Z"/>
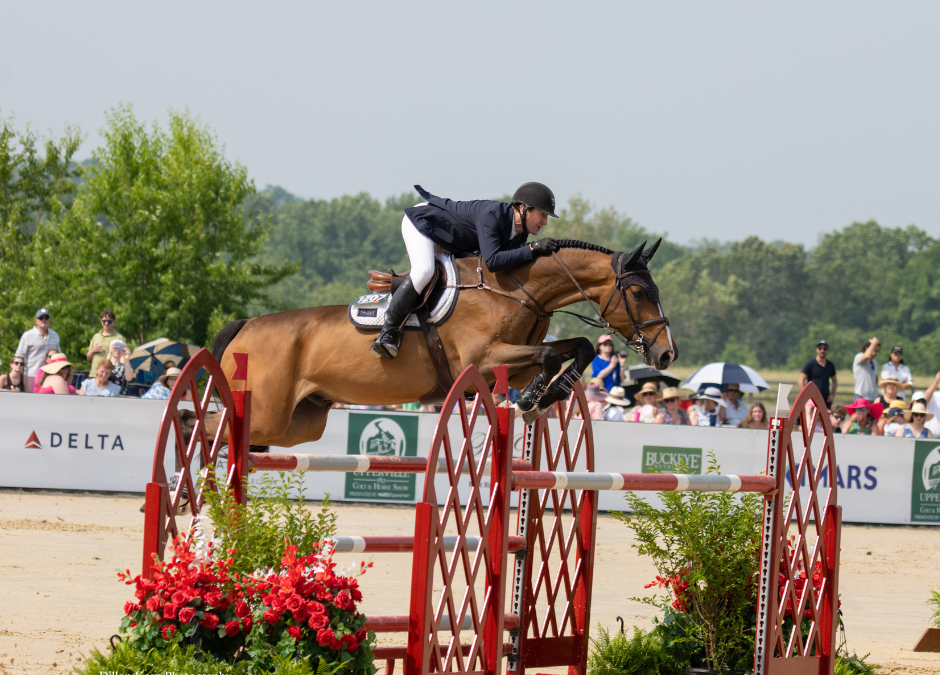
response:
<path id="1" fill-rule="evenodd" d="M 418 456 L 417 415 L 349 413 L 347 455 Z M 416 475 L 411 473 L 347 473 L 346 499 L 413 502 Z"/>

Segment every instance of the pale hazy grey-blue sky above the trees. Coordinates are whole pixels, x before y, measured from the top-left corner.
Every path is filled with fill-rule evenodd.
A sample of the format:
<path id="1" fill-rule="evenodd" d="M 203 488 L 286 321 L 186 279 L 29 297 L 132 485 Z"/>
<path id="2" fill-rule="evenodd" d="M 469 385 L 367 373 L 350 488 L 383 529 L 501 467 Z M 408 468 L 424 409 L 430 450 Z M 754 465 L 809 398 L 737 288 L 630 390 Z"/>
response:
<path id="1" fill-rule="evenodd" d="M 547 183 L 678 241 L 940 236 L 938 2 L 4 3 L 0 115 L 188 108 L 259 187 Z"/>

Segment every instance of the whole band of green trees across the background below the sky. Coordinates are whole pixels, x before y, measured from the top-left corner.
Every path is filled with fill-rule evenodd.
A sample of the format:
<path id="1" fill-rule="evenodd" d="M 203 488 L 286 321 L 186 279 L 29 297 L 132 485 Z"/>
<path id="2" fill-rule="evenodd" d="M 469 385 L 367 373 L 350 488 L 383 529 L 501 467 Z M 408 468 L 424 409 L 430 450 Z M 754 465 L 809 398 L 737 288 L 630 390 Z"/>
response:
<path id="1" fill-rule="evenodd" d="M 186 113 L 172 112 L 164 130 L 120 107 L 102 136 L 76 163 L 78 130 L 40 139 L 0 118 L 4 362 L 40 306 L 70 356 L 84 352 L 104 308 L 136 343 L 208 344 L 232 318 L 347 303 L 366 292 L 366 270 L 408 266 L 400 224 L 419 199 L 410 190 L 384 202 L 258 191 Z M 913 225 L 852 223 L 812 248 L 759 237 L 682 245 L 574 197 L 543 236 L 614 250 L 663 236 L 652 271 L 682 364 L 799 368 L 826 339 L 847 368 L 877 335 L 903 345 L 915 372 L 940 367 L 940 242 Z M 551 332 L 599 333 L 563 315 Z"/>

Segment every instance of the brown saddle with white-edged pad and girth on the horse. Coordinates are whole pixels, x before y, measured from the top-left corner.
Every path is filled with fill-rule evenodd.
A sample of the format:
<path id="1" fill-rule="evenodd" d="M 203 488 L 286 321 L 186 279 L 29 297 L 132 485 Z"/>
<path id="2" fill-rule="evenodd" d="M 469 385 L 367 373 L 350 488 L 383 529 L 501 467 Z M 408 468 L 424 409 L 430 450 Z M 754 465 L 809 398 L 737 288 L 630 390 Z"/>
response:
<path id="1" fill-rule="evenodd" d="M 408 272 L 396 274 L 393 270 L 379 272 L 369 270 L 366 287 L 371 291 L 356 299 L 349 306 L 349 320 L 357 328 L 380 330 L 385 320 L 385 309 L 391 294 L 408 277 Z M 434 264 L 434 276 L 421 294 L 418 307 L 405 322 L 405 330 L 420 330 L 428 345 L 431 363 L 434 365 L 436 383 L 434 388 L 420 398 L 422 404 L 440 403 L 450 391 L 454 380 L 450 375 L 450 364 L 444 345 L 437 332 L 437 324 L 446 321 L 457 304 L 460 273 L 452 255 L 439 252 Z"/>

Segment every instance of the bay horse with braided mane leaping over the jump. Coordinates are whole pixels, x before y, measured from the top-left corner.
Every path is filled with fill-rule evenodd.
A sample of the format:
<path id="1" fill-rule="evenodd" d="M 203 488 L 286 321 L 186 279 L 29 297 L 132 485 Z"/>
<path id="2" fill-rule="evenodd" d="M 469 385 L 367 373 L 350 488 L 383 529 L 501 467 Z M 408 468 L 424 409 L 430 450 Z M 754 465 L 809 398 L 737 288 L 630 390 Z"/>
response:
<path id="1" fill-rule="evenodd" d="M 598 319 L 588 322 L 641 352 L 647 365 L 666 368 L 678 349 L 647 268 L 659 243 L 621 253 L 562 239 L 557 254 L 495 273 L 477 258 L 458 259 L 461 283 L 467 285 L 460 286 L 464 290 L 450 318 L 437 327 L 451 376 L 472 363 L 492 385 L 493 366 L 508 365 L 510 386 L 523 389 L 517 406 L 531 423 L 567 398 L 594 358 L 594 345 L 583 337 L 542 342 L 551 313 L 585 299 L 597 306 Z M 477 283 L 468 284 L 471 280 Z M 294 309 L 233 321 L 219 332 L 213 354 L 228 378 L 235 370 L 232 354 L 248 354 L 252 445 L 291 447 L 318 440 L 337 402 L 411 403 L 434 388 L 435 371 L 420 331 L 403 331 L 394 360 L 376 359 L 369 353 L 374 331 L 353 326 L 346 312 L 345 305 Z M 207 431 L 215 430 L 210 416 Z"/>

